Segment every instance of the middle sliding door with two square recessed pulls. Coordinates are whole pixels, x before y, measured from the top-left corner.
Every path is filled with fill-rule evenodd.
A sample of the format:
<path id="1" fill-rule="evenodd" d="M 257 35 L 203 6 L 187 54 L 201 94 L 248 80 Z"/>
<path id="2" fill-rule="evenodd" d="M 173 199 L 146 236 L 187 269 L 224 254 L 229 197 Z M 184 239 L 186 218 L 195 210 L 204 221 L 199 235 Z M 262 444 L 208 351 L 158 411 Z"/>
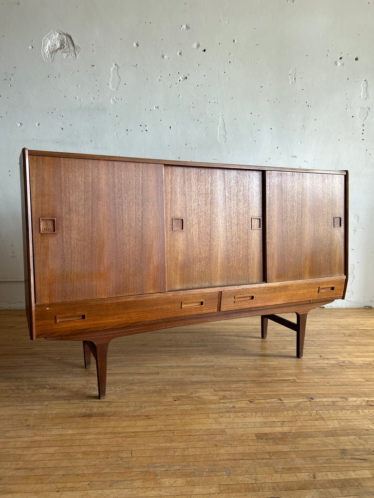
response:
<path id="1" fill-rule="evenodd" d="M 165 206 L 168 290 L 263 280 L 260 171 L 165 166 Z"/>

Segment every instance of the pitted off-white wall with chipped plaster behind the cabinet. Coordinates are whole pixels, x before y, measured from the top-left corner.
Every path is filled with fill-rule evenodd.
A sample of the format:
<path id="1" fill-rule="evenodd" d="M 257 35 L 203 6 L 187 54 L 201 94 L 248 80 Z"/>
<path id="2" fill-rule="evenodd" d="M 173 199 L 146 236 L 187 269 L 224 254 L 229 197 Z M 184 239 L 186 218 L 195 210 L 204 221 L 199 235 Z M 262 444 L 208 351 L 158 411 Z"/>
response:
<path id="1" fill-rule="evenodd" d="M 373 118 L 374 0 L 0 1 L 0 307 L 24 301 L 22 147 L 348 169 L 335 305 L 372 306 Z"/>

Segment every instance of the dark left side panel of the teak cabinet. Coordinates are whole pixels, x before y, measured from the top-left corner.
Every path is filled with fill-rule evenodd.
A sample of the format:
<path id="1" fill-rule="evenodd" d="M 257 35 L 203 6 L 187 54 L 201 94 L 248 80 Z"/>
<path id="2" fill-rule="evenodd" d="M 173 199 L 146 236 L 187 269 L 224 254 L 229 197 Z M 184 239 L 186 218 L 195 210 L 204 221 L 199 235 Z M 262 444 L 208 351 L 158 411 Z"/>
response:
<path id="1" fill-rule="evenodd" d="M 19 157 L 19 169 L 21 185 L 23 269 L 26 316 L 30 339 L 36 339 L 30 177 L 28 165 L 28 150 L 26 148 L 22 149 L 21 155 Z"/>

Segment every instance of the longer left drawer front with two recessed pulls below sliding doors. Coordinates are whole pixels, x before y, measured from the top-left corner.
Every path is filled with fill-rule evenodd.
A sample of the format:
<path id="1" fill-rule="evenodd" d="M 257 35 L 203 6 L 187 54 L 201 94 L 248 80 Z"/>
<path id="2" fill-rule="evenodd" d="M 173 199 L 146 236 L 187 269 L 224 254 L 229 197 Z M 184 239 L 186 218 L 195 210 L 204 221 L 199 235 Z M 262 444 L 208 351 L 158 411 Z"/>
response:
<path id="1" fill-rule="evenodd" d="M 35 306 L 36 337 L 216 312 L 219 292 L 150 294 Z"/>

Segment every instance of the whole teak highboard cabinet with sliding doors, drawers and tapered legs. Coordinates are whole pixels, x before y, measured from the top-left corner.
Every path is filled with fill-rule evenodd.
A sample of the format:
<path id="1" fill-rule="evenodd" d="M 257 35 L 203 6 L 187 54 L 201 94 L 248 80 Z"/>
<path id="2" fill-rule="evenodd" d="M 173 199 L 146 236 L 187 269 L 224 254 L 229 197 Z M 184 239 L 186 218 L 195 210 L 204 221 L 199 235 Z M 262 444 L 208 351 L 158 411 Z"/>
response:
<path id="1" fill-rule="evenodd" d="M 83 342 L 261 316 L 296 332 L 347 288 L 348 173 L 23 149 L 30 338 Z M 277 316 L 296 313 L 296 322 Z"/>

